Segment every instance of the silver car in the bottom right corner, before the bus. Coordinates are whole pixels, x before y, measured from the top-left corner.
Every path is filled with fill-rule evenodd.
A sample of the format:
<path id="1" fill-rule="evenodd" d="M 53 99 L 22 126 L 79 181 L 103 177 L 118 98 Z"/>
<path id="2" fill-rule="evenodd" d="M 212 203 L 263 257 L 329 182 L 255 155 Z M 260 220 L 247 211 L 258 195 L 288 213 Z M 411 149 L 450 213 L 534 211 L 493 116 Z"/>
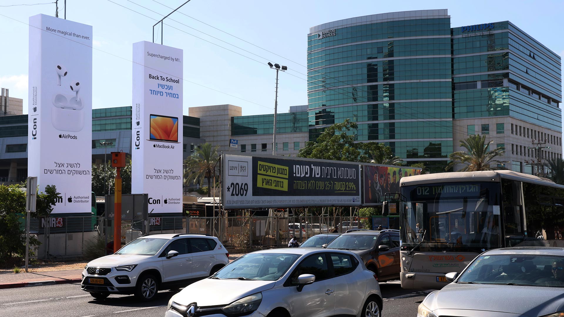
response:
<path id="1" fill-rule="evenodd" d="M 480 254 L 453 283 L 429 293 L 417 316 L 564 316 L 564 249 L 521 247 Z"/>

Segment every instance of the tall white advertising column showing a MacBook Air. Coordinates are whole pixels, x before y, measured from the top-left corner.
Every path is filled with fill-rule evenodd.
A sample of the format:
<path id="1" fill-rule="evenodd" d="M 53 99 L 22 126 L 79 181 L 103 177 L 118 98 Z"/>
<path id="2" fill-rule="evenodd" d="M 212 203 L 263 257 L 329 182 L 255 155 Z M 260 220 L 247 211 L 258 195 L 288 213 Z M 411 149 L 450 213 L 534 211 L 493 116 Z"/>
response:
<path id="1" fill-rule="evenodd" d="M 183 51 L 133 44 L 131 192 L 147 193 L 149 212 L 182 212 Z"/>

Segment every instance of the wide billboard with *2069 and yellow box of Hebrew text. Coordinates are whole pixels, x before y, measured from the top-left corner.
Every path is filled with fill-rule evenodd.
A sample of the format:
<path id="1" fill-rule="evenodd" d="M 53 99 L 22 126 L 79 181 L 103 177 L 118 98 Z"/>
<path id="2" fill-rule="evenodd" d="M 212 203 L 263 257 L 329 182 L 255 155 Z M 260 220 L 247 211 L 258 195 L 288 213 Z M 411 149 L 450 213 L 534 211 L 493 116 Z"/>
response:
<path id="1" fill-rule="evenodd" d="M 226 209 L 360 205 L 360 165 L 226 155 Z"/>

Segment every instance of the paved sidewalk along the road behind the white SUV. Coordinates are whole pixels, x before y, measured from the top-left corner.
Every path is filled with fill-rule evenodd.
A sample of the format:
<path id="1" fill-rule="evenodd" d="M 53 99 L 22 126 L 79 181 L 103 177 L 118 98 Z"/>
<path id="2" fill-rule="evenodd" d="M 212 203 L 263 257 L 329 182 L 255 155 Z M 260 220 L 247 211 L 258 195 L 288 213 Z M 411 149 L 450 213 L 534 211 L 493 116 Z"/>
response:
<path id="1" fill-rule="evenodd" d="M 243 254 L 230 254 L 229 262 L 243 256 Z M 82 269 L 66 271 L 50 271 L 37 273 L 5 273 L 0 274 L 0 289 L 29 287 L 39 285 L 80 283 L 82 281 Z"/>

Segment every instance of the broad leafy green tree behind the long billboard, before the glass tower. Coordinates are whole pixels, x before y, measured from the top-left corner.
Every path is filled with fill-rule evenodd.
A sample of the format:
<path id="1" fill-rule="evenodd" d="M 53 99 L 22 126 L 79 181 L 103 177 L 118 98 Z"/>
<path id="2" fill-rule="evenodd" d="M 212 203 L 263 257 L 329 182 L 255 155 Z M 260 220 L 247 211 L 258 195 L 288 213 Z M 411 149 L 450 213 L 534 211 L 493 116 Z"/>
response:
<path id="1" fill-rule="evenodd" d="M 318 158 L 320 160 L 375 162 L 377 164 L 398 165 L 403 162 L 393 155 L 390 147 L 377 142 L 355 142 L 354 131 L 358 124 L 350 119 L 325 128 L 315 141 L 306 142 L 298 152 L 298 157 Z"/>

